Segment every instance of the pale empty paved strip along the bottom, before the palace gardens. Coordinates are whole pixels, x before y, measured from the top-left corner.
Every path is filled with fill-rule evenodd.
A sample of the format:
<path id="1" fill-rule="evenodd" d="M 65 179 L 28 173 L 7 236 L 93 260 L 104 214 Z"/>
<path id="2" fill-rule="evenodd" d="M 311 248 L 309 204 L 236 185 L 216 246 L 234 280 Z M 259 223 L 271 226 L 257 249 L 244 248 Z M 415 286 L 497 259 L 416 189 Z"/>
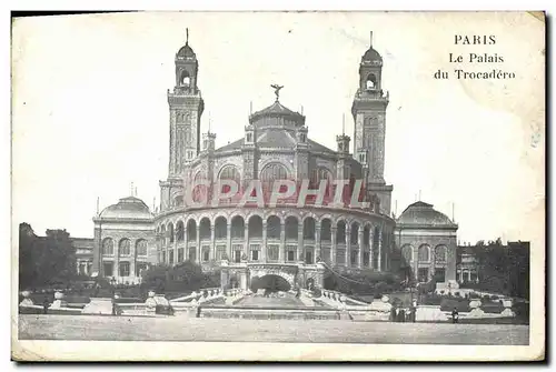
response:
<path id="1" fill-rule="evenodd" d="M 19 315 L 20 340 L 526 345 L 528 325 Z"/>

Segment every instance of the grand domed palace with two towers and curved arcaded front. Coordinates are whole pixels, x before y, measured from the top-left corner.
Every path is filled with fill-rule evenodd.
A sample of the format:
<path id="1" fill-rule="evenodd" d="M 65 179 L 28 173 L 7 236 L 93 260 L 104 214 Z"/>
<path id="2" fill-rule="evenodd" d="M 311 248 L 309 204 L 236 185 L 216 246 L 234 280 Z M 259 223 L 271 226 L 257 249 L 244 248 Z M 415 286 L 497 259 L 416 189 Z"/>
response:
<path id="1" fill-rule="evenodd" d="M 326 267 L 389 270 L 391 252 L 401 244 L 406 255 L 410 247 L 408 262 L 419 279 L 444 273 L 451 280 L 457 227 L 411 225 L 406 211 L 396 228 L 391 218 L 393 187 L 384 178 L 389 97 L 383 90 L 383 58 L 370 46 L 354 68 L 359 79 L 351 149 L 345 133 L 336 137 L 335 150 L 310 140 L 307 118 L 280 102 L 279 86 L 272 86 L 276 100 L 249 115 L 241 138 L 216 148 L 216 134 L 201 133 L 199 60 L 186 42 L 175 56 L 175 87 L 167 92 L 169 163 L 159 182 L 160 205 L 155 213 L 128 197 L 98 213 L 92 271 L 135 283 L 148 264 L 189 260 L 220 268 L 222 285 L 248 288 L 266 275 L 281 277 L 289 286 L 321 285 Z M 222 189 L 228 181 L 237 192 Z M 254 181 L 260 189 L 251 189 Z M 277 181 L 290 182 L 295 192 L 275 204 L 262 194 L 271 194 Z M 316 190 L 321 198 L 311 195 Z M 202 203 L 215 193 L 229 198 Z M 423 244 L 426 262 L 414 261 L 425 254 Z"/>

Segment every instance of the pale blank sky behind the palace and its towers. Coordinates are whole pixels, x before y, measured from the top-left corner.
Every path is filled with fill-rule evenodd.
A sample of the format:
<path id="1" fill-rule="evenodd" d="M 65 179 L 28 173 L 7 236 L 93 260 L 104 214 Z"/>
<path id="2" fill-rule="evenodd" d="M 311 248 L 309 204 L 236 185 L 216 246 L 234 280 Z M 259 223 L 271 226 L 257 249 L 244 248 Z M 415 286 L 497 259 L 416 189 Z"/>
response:
<path id="1" fill-rule="evenodd" d="M 458 240 L 542 242 L 545 203 L 544 24 L 525 13 L 137 13 L 17 20 L 12 39 L 12 218 L 38 234 L 92 237 L 100 208 L 131 193 L 148 205 L 168 174 L 167 89 L 173 58 L 199 60 L 201 131 L 217 147 L 242 137 L 254 111 L 280 102 L 307 117 L 308 137 L 335 149 L 353 137 L 361 56 L 384 58 L 385 179 L 397 214 L 419 199 L 459 224 Z M 456 34 L 495 46 L 455 44 Z M 449 53 L 513 80 L 434 79 Z M 457 68 L 457 66 L 456 66 Z M 396 210 L 397 205 L 397 210 Z"/>

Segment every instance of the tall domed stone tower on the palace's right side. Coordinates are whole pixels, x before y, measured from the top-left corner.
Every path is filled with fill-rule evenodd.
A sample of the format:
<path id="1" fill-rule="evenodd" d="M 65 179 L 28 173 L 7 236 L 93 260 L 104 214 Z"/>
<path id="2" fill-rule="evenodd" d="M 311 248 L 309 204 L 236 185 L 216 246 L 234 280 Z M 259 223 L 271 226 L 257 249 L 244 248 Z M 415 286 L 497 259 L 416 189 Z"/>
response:
<path id="1" fill-rule="evenodd" d="M 380 199 L 380 212 L 389 214 L 391 187 L 384 179 L 386 108 L 388 93 L 383 91 L 383 57 L 370 47 L 359 64 L 359 88 L 351 113 L 355 121 L 354 157 L 363 164 L 367 190 Z"/>

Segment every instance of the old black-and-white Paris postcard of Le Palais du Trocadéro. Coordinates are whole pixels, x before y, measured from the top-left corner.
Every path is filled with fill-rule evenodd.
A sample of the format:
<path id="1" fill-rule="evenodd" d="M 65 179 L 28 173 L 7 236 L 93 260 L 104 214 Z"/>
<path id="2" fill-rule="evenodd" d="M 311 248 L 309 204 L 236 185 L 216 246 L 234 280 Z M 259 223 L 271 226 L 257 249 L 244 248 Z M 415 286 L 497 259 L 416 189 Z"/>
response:
<path id="1" fill-rule="evenodd" d="M 12 359 L 543 359 L 544 17 L 13 19 Z"/>

